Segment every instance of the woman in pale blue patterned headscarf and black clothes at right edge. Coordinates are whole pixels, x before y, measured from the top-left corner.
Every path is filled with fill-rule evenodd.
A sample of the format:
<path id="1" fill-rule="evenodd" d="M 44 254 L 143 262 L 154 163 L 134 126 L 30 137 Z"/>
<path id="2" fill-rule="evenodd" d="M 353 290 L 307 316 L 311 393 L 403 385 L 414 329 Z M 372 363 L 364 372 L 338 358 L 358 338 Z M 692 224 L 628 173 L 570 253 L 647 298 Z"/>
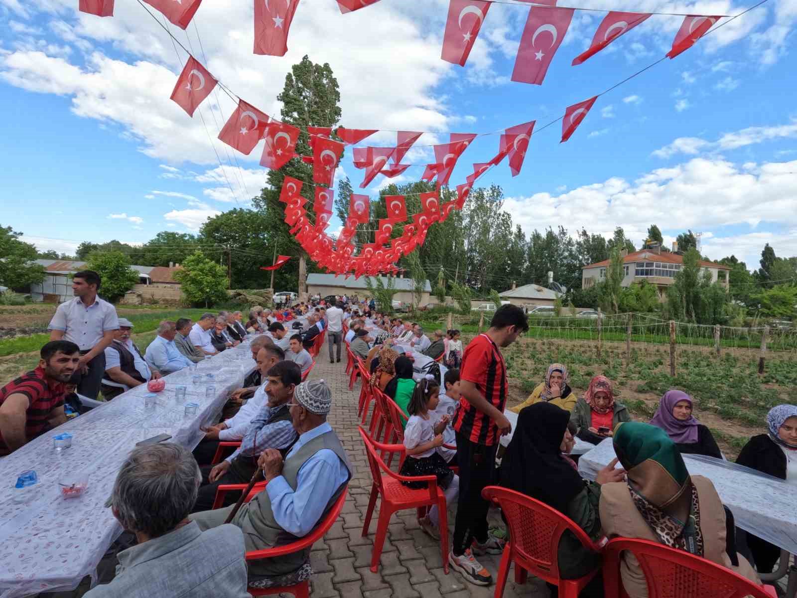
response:
<path id="1" fill-rule="evenodd" d="M 797 405 L 778 405 L 767 414 L 768 434 L 753 436 L 736 462 L 797 484 Z M 760 573 L 770 573 L 780 549 L 748 533 L 748 546 Z"/>

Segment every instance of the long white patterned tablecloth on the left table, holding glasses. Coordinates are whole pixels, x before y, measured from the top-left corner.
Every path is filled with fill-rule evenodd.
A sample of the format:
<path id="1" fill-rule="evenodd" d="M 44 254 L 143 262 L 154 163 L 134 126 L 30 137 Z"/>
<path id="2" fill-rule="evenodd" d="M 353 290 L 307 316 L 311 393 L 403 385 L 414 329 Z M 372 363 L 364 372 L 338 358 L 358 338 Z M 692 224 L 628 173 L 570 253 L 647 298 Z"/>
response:
<path id="1" fill-rule="evenodd" d="M 255 367 L 249 340 L 198 364 L 166 376 L 155 408 L 144 408 L 146 385 L 132 388 L 112 401 L 27 443 L 0 458 L 0 598 L 77 587 L 94 576 L 112 541 L 122 531 L 104 502 L 116 473 L 135 443 L 159 434 L 194 448 L 202 439 L 200 427 L 212 423 L 230 391 L 240 388 Z M 194 384 L 194 373 L 202 382 Z M 211 380 L 208 375 L 212 375 Z M 175 386 L 186 386 L 186 400 L 175 400 Z M 212 395 L 206 388 L 214 386 Z M 185 403 L 198 403 L 196 415 L 184 415 Z M 72 447 L 53 449 L 53 436 L 73 435 Z M 35 470 L 38 483 L 29 502 L 14 502 L 18 474 Z M 61 498 L 63 474 L 85 472 L 88 488 L 79 498 Z"/>

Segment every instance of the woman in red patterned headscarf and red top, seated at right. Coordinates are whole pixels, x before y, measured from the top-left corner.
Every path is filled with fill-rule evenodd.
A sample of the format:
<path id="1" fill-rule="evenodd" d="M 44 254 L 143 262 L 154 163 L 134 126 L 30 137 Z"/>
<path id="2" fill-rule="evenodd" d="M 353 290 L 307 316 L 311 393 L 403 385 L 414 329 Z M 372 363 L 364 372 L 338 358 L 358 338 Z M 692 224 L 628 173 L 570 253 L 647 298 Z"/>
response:
<path id="1" fill-rule="evenodd" d="M 575 402 L 570 421 L 579 428 L 576 434 L 584 442 L 598 444 L 611 436 L 620 422 L 630 422 L 626 406 L 614 400 L 611 380 L 595 376 L 587 392 Z"/>

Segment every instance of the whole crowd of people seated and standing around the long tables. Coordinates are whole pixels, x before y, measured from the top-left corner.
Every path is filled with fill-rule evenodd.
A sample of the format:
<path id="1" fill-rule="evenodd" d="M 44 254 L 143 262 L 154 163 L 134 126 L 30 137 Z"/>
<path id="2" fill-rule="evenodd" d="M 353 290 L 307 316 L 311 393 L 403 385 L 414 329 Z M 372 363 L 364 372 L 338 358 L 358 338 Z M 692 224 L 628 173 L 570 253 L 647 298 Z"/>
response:
<path id="1" fill-rule="evenodd" d="M 86 273 L 83 278 L 79 285 L 94 280 Z M 99 280 L 89 290 L 92 285 L 98 288 Z M 371 372 L 367 384 L 405 415 L 406 458 L 399 473 L 434 475 L 447 504 L 456 506 L 449 563 L 470 583 L 492 583 L 477 557 L 501 554 L 505 547 L 505 533 L 489 529 L 490 505 L 481 495 L 495 484 L 567 515 L 597 545 L 611 537 L 643 538 L 705 557 L 756 583 L 756 569 L 770 572 L 779 557 L 777 547 L 747 534 L 753 568 L 737 553 L 732 513 L 723 508 L 712 482 L 689 475 L 681 454 L 723 455 L 709 428 L 695 418 L 693 399 L 685 392 L 665 392 L 650 423 L 634 422 L 606 376 L 593 377 L 577 396 L 567 367 L 551 364 L 528 399 L 509 410 L 518 414 L 512 430 L 505 415 L 508 378 L 500 348 L 528 331 L 527 317 L 516 306 L 497 309 L 489 329 L 464 351 L 458 330 L 437 330 L 430 339 L 418 324 L 405 325 L 373 305 L 340 297 L 333 305 L 312 301 L 279 312 L 255 306 L 245 324 L 240 312 L 204 313 L 193 323 L 163 321 L 142 354 L 131 340 L 130 321 L 115 312 L 109 321 L 102 304 L 96 313 L 88 309 L 101 301 L 96 288 L 95 297 L 76 293 L 67 302 L 72 305 L 59 307 L 62 319 L 53 318 L 53 340 L 41 348 L 37 368 L 0 388 L 0 456 L 66 421 L 69 395 L 77 394 L 80 376 L 92 376 L 89 363 L 99 357 L 104 371 L 97 386 L 106 400 L 212 359 L 238 346 L 247 333 L 255 335 L 249 349 L 257 368 L 230 394 L 218 423 L 203 428 L 193 452 L 161 443 L 128 455 L 107 506 L 137 543 L 118 553 L 116 577 L 90 590 L 90 598 L 239 598 L 247 596 L 247 586 L 282 587 L 308 579 L 309 549 L 260 561 L 245 561 L 244 555 L 308 534 L 351 478 L 346 451 L 327 422 L 332 391 L 324 380 L 302 382 L 313 363 L 308 342 L 312 346 L 324 331 L 330 363 L 340 361 L 340 344 L 346 344 Z M 82 344 L 85 327 L 76 325 L 77 319 L 69 324 L 80 310 L 96 325 L 96 337 Z M 94 351 L 97 347 L 101 351 Z M 418 355 L 445 365 L 442 378 L 416 371 Z M 766 423 L 768 433 L 750 439 L 737 462 L 797 483 L 797 406 L 773 408 Z M 499 440 L 510 432 L 512 439 L 499 456 Z M 614 445 L 617 458 L 595 482 L 580 476 L 569 454 L 575 438 L 593 444 L 611 439 Z M 219 443 L 231 440 L 240 441 L 240 447 L 224 455 Z M 267 485 L 250 502 L 238 508 L 234 503 L 241 490 L 233 490 L 224 495 L 221 508 L 213 509 L 219 486 L 246 484 L 259 474 Z M 437 507 L 419 524 L 439 539 Z M 601 562 L 600 553 L 569 532 L 559 541 L 557 557 L 566 579 L 583 576 Z M 621 574 L 630 598 L 648 596 L 633 556 L 623 557 Z M 582 593 L 603 596 L 600 576 Z"/>

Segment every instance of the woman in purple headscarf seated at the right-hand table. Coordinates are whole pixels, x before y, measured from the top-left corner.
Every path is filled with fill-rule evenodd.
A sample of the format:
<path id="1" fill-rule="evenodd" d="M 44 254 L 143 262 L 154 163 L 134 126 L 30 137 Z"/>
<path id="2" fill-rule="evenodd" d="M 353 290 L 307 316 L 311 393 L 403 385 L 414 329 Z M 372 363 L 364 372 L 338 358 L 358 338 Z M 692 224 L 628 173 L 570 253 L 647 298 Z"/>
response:
<path id="1" fill-rule="evenodd" d="M 662 396 L 656 415 L 650 423 L 662 428 L 678 450 L 681 450 L 681 454 L 705 454 L 708 457 L 722 458 L 720 447 L 717 447 L 711 431 L 695 419 L 692 410 L 692 397 L 685 392 L 671 389 Z"/>

